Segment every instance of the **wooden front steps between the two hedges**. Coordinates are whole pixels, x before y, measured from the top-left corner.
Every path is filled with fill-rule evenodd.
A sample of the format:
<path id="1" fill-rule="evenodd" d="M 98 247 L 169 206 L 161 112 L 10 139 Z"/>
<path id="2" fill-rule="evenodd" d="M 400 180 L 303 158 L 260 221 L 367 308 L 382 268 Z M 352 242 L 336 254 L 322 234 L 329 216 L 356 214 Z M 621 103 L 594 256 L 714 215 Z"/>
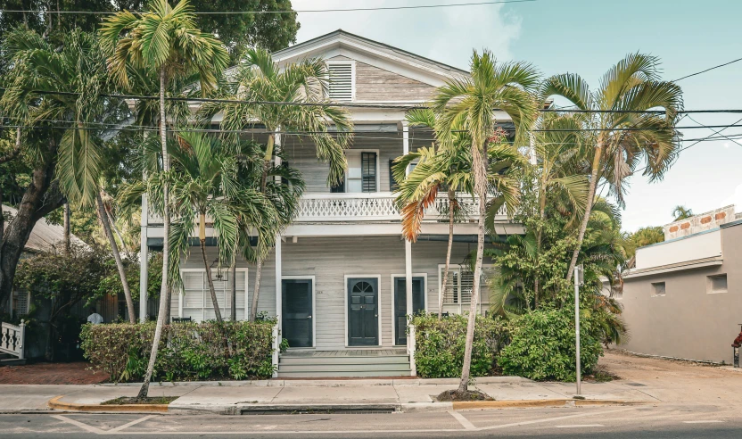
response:
<path id="1" fill-rule="evenodd" d="M 409 356 L 403 350 L 284 352 L 279 378 L 409 377 Z"/>

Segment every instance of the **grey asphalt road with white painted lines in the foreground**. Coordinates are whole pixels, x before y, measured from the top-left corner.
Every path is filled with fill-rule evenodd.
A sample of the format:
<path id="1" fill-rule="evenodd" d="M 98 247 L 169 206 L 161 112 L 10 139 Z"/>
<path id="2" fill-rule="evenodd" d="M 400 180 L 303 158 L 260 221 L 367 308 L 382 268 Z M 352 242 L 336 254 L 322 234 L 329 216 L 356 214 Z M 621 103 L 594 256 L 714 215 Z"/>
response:
<path id="1" fill-rule="evenodd" d="M 45 437 L 742 437 L 738 411 L 714 405 L 310 415 L 0 415 L 0 436 Z"/>

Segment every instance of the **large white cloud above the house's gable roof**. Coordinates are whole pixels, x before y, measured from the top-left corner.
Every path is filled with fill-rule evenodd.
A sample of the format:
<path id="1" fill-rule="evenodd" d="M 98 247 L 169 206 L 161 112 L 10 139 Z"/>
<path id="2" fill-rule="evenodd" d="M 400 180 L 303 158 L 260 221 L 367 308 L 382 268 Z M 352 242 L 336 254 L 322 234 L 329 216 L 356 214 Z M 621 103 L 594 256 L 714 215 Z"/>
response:
<path id="1" fill-rule="evenodd" d="M 400 0 L 293 0 L 296 10 L 348 9 L 416 5 Z M 510 60 L 522 19 L 503 4 L 390 11 L 300 12 L 297 41 L 347 30 L 414 54 L 467 70 L 472 50 L 489 48 Z"/>

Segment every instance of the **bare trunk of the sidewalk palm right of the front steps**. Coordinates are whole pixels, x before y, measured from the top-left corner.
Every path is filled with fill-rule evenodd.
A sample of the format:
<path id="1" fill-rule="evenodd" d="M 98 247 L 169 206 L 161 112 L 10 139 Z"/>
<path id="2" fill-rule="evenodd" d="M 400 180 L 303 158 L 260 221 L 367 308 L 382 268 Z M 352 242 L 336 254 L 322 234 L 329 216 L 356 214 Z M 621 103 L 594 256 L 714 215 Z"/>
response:
<path id="1" fill-rule="evenodd" d="M 464 348 L 464 364 L 461 368 L 461 381 L 458 383 L 458 392 L 466 392 L 469 385 L 469 372 L 472 367 L 472 347 L 474 346 L 474 325 L 476 323 L 476 305 L 480 294 L 480 277 L 482 277 L 482 257 L 484 254 L 484 219 L 487 215 L 487 144 L 483 145 L 483 153 L 472 145 L 472 168 L 474 170 L 474 188 L 479 197 L 479 222 L 476 239 L 476 262 L 474 264 L 474 279 L 472 288 L 471 308 L 469 319 L 466 322 L 466 345 Z M 482 155 L 481 155 L 482 154 Z"/>

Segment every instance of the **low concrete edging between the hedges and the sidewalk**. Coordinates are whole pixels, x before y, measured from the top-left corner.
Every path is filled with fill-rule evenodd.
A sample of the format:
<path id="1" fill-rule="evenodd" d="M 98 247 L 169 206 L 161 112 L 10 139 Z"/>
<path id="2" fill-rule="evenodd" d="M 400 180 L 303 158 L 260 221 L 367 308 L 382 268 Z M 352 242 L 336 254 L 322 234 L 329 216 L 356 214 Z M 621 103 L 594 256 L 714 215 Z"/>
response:
<path id="1" fill-rule="evenodd" d="M 251 381 L 177 381 L 153 382 L 154 387 L 177 386 L 258 386 L 258 387 L 358 387 L 376 385 L 458 385 L 458 378 L 406 378 L 406 379 L 257 379 Z M 476 385 L 531 383 L 524 377 L 478 377 Z M 140 387 L 142 383 L 104 383 L 110 387 Z"/>

